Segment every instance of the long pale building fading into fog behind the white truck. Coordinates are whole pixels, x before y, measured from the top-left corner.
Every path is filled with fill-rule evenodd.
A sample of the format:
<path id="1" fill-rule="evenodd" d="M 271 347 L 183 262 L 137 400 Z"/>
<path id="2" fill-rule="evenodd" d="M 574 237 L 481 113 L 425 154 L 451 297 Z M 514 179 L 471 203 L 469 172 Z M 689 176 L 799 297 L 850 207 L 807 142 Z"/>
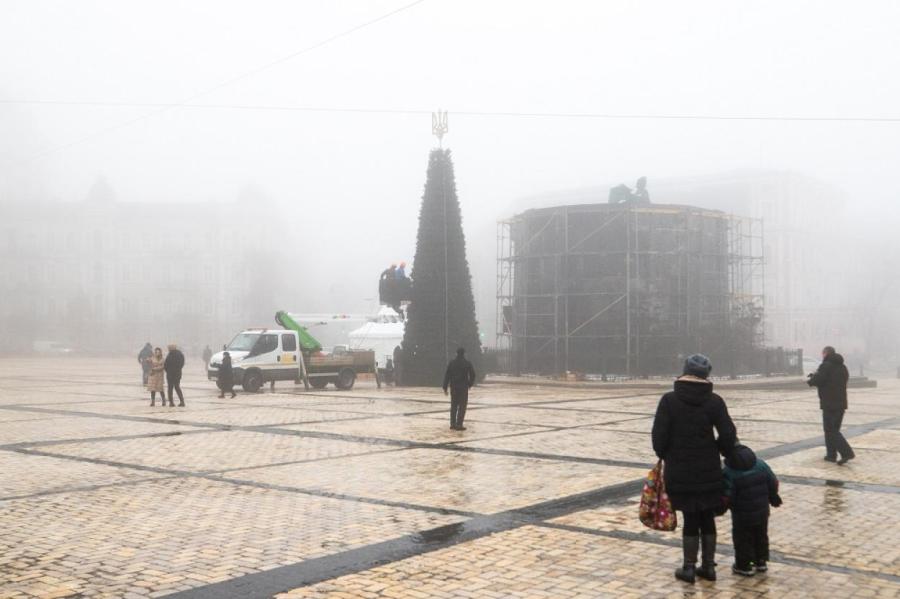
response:
<path id="1" fill-rule="evenodd" d="M 3 215 L 4 349 L 149 340 L 193 353 L 274 324 L 275 260 L 290 244 L 239 203 L 116 202 L 95 186 L 82 202 L 7 203 Z"/>

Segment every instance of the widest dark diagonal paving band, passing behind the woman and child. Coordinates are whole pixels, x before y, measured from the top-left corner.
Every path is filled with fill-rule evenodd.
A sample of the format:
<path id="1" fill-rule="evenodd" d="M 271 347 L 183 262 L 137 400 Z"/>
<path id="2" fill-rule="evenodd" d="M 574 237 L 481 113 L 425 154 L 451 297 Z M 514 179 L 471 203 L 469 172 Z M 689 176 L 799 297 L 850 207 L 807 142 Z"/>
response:
<path id="1" fill-rule="evenodd" d="M 848 427 L 845 436 L 855 437 L 863 435 L 872 430 L 877 430 L 883 425 L 890 425 L 895 422 L 900 422 L 900 417 L 887 418 L 878 423 Z M 760 457 L 780 457 L 821 444 L 822 440 L 817 436 L 804 441 L 786 443 L 783 446 L 769 448 L 768 450 L 760 450 L 758 454 Z M 272 597 L 278 593 L 307 587 L 349 574 L 364 572 L 388 563 L 473 541 L 490 534 L 506 532 L 526 525 L 544 523 L 547 520 L 582 511 L 589 507 L 615 503 L 616 501 L 621 502 L 639 493 L 643 483 L 644 479 L 636 479 L 608 485 L 586 493 L 557 498 L 524 508 L 498 512 L 493 515 L 480 516 L 457 524 L 374 543 L 323 558 L 306 560 L 273 570 L 246 574 L 220 583 L 172 593 L 166 595 L 166 597 L 174 599 L 214 599 L 218 597 L 262 599 Z M 585 529 L 585 531 L 593 530 Z M 791 558 L 791 560 L 793 565 L 820 569 L 818 563 L 806 562 L 797 558 Z M 847 568 L 844 572 L 866 576 L 871 574 L 869 571 L 853 570 L 851 568 Z M 896 581 L 900 581 L 900 577 L 893 577 L 889 574 L 882 575 L 890 577 L 888 580 L 894 581 L 896 579 Z"/>

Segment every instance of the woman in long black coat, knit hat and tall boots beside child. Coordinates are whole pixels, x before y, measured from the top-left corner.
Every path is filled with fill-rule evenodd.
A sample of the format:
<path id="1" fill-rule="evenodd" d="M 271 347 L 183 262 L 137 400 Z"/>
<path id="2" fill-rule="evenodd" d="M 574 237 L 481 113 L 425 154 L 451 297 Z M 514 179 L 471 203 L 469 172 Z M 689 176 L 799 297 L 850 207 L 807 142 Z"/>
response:
<path id="1" fill-rule="evenodd" d="M 711 371 L 709 358 L 689 356 L 684 374 L 662 396 L 653 419 L 653 451 L 663 460 L 672 507 L 683 513 L 684 562 L 675 578 L 692 584 L 697 576 L 716 579 L 715 513 L 722 505 L 723 485 L 719 455 L 727 455 L 737 441 L 725 401 L 713 393 Z M 701 543 L 703 561 L 697 568 Z"/>

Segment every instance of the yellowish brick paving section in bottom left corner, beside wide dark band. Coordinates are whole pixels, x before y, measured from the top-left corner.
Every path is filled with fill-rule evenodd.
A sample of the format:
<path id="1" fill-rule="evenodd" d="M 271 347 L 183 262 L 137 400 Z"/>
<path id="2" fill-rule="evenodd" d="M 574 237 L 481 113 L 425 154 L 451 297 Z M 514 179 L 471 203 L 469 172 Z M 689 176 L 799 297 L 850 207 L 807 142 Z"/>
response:
<path id="1" fill-rule="evenodd" d="M 185 478 L 11 501 L 0 595 L 163 594 L 458 519 Z"/>

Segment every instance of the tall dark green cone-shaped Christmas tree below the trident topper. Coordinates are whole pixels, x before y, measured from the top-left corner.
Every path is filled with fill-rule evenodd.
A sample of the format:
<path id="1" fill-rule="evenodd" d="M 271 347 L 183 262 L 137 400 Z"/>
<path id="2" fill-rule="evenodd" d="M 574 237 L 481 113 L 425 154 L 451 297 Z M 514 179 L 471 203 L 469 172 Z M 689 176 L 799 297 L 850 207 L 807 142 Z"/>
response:
<path id="1" fill-rule="evenodd" d="M 412 281 L 403 336 L 402 384 L 440 385 L 447 361 L 458 347 L 466 349 L 475 371 L 483 375 L 450 150 L 435 149 L 428 157 Z"/>

